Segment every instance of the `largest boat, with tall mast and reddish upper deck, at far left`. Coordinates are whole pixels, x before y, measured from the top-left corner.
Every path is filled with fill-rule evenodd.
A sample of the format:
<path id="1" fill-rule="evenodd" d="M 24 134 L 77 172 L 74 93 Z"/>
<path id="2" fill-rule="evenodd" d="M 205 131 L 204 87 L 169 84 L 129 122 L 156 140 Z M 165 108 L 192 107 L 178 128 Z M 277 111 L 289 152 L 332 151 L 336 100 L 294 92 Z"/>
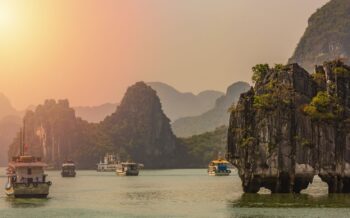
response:
<path id="1" fill-rule="evenodd" d="M 40 157 L 24 154 L 24 131 L 20 135 L 20 154 L 8 164 L 5 194 L 15 198 L 46 198 L 52 185 L 44 172 L 47 164 Z"/>

